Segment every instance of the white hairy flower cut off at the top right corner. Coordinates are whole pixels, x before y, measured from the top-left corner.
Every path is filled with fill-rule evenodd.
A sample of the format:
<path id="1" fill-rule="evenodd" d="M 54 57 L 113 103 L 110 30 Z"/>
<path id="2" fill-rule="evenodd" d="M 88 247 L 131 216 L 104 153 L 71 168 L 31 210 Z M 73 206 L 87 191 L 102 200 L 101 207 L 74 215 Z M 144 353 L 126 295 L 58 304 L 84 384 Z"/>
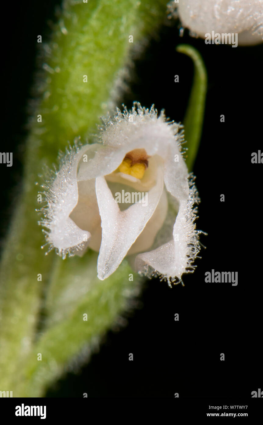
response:
<path id="1" fill-rule="evenodd" d="M 183 27 L 205 38 L 205 34 L 237 33 L 239 45 L 263 41 L 263 0 L 179 0 L 171 1 Z"/>

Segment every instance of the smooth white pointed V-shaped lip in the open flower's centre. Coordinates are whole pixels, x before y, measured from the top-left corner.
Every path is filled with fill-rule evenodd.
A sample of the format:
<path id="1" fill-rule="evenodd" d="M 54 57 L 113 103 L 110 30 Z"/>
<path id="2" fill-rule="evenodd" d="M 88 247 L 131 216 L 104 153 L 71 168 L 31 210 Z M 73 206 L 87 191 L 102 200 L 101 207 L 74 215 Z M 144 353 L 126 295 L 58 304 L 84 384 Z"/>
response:
<path id="1" fill-rule="evenodd" d="M 104 177 L 96 179 L 97 201 L 100 209 L 102 242 L 98 258 L 98 277 L 101 280 L 113 273 L 138 238 L 158 205 L 163 191 L 162 167 L 156 170 L 156 185 L 148 193 L 148 205 L 133 204 L 120 211 Z"/>

